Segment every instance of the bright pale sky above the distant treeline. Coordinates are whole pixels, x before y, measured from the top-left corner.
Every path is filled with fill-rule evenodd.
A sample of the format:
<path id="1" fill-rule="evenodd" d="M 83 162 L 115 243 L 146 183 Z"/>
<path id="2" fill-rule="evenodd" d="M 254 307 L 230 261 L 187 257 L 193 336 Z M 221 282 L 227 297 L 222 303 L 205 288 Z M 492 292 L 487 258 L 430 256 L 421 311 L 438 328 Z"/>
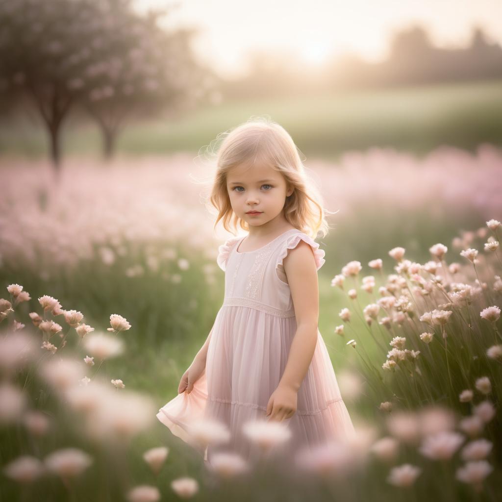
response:
<path id="1" fill-rule="evenodd" d="M 434 45 L 468 45 L 480 26 L 502 44 L 502 0 L 134 0 L 139 10 L 171 7 L 166 26 L 202 29 L 193 50 L 223 77 L 246 71 L 249 51 L 293 52 L 306 64 L 356 53 L 385 59 L 395 31 L 420 24 Z"/>

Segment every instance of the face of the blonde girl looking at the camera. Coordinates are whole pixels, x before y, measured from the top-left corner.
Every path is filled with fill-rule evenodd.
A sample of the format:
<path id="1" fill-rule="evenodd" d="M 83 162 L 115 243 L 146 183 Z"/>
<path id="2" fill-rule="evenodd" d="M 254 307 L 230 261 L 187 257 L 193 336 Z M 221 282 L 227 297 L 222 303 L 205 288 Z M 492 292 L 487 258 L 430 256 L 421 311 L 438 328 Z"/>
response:
<path id="1" fill-rule="evenodd" d="M 226 184 L 233 211 L 249 226 L 261 226 L 279 216 L 286 197 L 294 190 L 288 189 L 280 172 L 261 163 L 232 168 L 227 174 Z"/>

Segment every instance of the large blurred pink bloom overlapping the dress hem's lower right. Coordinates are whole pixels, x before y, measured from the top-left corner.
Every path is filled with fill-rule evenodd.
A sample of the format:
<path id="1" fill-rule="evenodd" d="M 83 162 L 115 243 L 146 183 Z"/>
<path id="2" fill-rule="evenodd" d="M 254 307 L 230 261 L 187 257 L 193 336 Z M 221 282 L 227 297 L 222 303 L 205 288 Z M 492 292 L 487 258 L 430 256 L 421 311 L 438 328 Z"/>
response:
<path id="1" fill-rule="evenodd" d="M 354 450 L 348 444 L 335 441 L 302 448 L 295 454 L 297 467 L 328 478 L 346 474 L 354 460 Z"/>

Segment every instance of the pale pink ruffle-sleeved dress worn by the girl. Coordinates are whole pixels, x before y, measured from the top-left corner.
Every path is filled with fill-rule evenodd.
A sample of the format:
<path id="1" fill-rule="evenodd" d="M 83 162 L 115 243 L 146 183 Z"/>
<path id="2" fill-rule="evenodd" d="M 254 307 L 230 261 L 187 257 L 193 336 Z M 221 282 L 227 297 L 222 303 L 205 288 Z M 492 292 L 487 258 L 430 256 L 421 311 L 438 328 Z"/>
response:
<path id="1" fill-rule="evenodd" d="M 284 372 L 296 332 L 291 291 L 282 265 L 288 249 L 304 240 L 312 247 L 317 270 L 324 251 L 307 234 L 290 229 L 259 249 L 238 252 L 244 237 L 232 237 L 219 246 L 217 264 L 225 272 L 225 296 L 211 330 L 206 369 L 190 394 L 183 392 L 163 406 L 157 418 L 171 432 L 190 443 L 188 423 L 211 418 L 231 432 L 229 443 L 209 446 L 212 451 L 234 451 L 249 458 L 253 445 L 241 431 L 251 420 L 266 420 L 267 404 Z M 283 423 L 291 429 L 290 454 L 302 446 L 354 433 L 340 396 L 335 373 L 321 333 L 298 391 L 297 411 Z"/>

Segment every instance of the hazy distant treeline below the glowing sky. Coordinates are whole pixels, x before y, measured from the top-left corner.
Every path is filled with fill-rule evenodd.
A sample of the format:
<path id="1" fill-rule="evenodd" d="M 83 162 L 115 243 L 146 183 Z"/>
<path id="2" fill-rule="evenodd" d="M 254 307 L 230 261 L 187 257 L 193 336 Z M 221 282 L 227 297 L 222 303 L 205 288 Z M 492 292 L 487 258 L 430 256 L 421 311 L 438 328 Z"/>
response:
<path id="1" fill-rule="evenodd" d="M 223 96 L 242 98 L 500 77 L 502 47 L 487 40 L 482 29 L 474 28 L 468 47 L 443 49 L 431 43 L 424 28 L 414 26 L 396 33 L 381 63 L 346 54 L 315 71 L 295 54 L 254 53 L 248 74 L 221 87 Z"/>

